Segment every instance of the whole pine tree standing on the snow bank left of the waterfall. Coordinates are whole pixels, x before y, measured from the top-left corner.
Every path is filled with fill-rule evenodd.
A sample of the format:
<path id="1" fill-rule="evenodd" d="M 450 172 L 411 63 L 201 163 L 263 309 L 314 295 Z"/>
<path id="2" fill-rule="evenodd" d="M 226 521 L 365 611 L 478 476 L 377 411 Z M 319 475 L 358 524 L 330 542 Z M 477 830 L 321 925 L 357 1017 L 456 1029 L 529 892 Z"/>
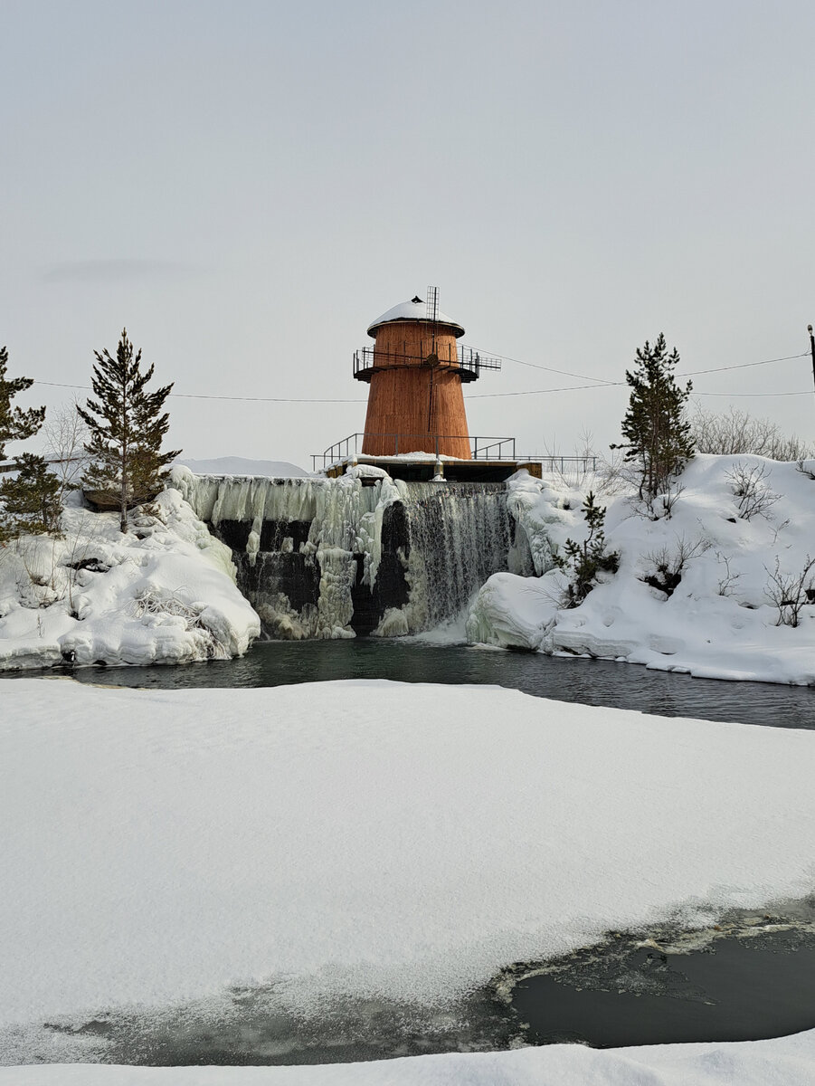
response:
<path id="1" fill-rule="evenodd" d="M 91 465 L 82 485 L 119 509 L 119 527 L 127 531 L 127 510 L 152 501 L 162 489 L 162 468 L 180 450 L 162 453 L 162 439 L 169 427 L 169 415 L 162 414 L 173 384 L 155 392 L 144 387 L 154 367 L 141 371 L 141 351 L 133 356 L 133 345 L 123 329 L 112 358 L 105 350 L 93 352 L 91 387 L 97 400 L 88 399 L 87 409 L 77 407 L 90 430 L 85 449 Z"/>

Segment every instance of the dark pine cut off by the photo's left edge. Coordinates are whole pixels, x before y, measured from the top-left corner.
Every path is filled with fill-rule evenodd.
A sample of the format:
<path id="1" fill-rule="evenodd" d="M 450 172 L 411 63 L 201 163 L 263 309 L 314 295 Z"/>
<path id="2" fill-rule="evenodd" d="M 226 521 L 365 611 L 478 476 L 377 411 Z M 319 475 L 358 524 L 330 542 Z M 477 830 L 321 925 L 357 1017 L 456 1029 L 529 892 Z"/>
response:
<path id="1" fill-rule="evenodd" d="M 29 389 L 30 377 L 8 380 L 9 352 L 0 348 L 0 460 L 8 441 L 33 438 L 46 417 L 44 407 L 12 407 L 18 392 Z M 23 532 L 54 531 L 60 519 L 59 482 L 41 456 L 23 453 L 18 470 L 0 482 L 0 542 Z"/>

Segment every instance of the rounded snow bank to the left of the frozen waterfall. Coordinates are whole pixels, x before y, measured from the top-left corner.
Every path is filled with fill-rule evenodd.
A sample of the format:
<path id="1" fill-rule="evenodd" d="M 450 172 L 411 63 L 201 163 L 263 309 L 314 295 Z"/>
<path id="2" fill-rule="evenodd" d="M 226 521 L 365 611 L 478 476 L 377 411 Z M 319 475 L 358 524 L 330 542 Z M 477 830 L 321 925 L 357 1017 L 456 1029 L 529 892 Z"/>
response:
<path id="1" fill-rule="evenodd" d="M 76 664 L 187 664 L 229 658 L 259 633 L 234 584 L 231 553 L 176 490 L 155 516 L 90 513 L 78 496 L 61 539 L 0 550 L 0 669 Z M 131 518 L 132 519 L 132 518 Z"/>

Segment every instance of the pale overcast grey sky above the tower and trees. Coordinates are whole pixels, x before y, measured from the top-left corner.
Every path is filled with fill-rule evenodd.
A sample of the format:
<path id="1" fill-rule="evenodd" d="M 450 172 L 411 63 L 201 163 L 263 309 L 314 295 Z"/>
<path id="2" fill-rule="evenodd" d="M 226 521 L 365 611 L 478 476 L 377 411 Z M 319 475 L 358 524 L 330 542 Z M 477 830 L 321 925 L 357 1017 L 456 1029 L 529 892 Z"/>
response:
<path id="1" fill-rule="evenodd" d="M 364 401 L 353 351 L 429 283 L 464 342 L 599 380 L 660 331 L 685 370 L 808 351 L 812 0 L 0 0 L 0 17 L 13 376 L 87 384 L 126 325 L 178 393 Z M 507 362 L 468 388 L 471 432 L 606 447 L 625 388 L 488 395 L 587 383 Z M 695 386 L 815 438 L 807 357 Z M 170 403 L 194 457 L 306 466 L 365 420 L 364 402 Z"/>

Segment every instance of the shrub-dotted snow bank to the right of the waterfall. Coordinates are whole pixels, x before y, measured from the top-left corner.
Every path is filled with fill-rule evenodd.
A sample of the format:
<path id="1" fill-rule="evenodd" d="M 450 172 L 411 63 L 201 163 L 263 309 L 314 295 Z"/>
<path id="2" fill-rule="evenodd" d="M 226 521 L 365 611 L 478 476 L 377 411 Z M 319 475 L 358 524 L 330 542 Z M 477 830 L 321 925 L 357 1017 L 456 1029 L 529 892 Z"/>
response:
<path id="1" fill-rule="evenodd" d="M 736 493 L 746 480 L 752 498 Z M 779 607 L 769 599 L 773 592 L 789 598 L 780 579 L 801 578 L 815 557 L 815 480 L 807 472 L 757 456 L 697 456 L 677 482 L 670 516 L 661 502 L 649 514 L 628 496 L 600 492 L 620 570 L 603 574 L 606 583 L 581 606 L 564 609 L 565 578 L 552 568 L 552 548 L 585 538 L 581 505 L 590 484 L 598 489 L 601 480 L 575 491 L 524 473 L 510 484 L 510 504 L 544 576 L 491 578 L 468 622 L 471 640 L 708 678 L 815 683 L 815 604 L 805 597 L 815 566 L 795 590 L 803 599 L 797 628 L 778 624 Z M 756 501 L 763 509 L 748 517 Z M 675 568 L 683 556 L 672 595 L 645 583 L 660 564 Z"/>

